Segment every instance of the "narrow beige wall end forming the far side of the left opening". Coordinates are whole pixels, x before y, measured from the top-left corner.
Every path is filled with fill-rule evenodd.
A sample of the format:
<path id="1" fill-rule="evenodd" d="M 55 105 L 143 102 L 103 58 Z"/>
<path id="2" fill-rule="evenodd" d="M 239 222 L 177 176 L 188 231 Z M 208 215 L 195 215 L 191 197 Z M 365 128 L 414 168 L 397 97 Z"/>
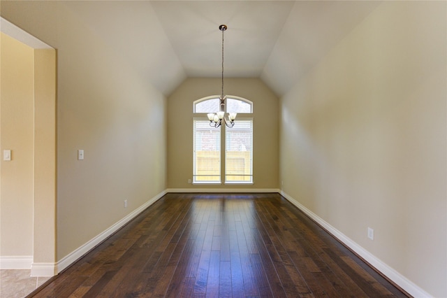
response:
<path id="1" fill-rule="evenodd" d="M 36 264 L 56 256 L 56 51 L 34 50 L 34 241 L 31 274 Z M 53 273 L 57 274 L 54 271 Z"/>

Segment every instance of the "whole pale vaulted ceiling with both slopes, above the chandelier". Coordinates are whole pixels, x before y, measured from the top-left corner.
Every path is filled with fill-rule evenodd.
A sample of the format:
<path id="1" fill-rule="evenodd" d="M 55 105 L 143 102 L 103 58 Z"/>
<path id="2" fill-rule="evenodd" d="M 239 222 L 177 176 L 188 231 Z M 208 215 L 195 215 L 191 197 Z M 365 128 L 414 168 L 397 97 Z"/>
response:
<path id="1" fill-rule="evenodd" d="M 187 77 L 261 78 L 278 95 L 379 1 L 61 1 L 163 94 Z M 31 24 L 30 24 L 31 26 Z"/>

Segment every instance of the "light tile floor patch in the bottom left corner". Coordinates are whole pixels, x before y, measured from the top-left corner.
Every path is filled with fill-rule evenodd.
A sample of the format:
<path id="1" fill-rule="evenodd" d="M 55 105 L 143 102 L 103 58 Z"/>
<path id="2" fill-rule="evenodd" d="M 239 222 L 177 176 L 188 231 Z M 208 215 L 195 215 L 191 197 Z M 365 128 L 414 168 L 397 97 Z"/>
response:
<path id="1" fill-rule="evenodd" d="M 49 280 L 50 277 L 31 277 L 31 270 L 2 269 L 0 270 L 0 297 L 25 297 Z"/>

